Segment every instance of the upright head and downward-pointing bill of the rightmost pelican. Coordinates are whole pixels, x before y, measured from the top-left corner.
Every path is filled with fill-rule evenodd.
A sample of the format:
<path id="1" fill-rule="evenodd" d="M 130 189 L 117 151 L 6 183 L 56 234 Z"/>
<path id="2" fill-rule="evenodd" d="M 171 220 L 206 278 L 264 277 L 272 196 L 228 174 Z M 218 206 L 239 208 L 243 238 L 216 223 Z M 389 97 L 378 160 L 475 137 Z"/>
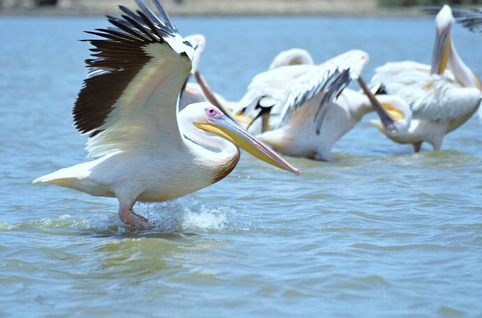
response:
<path id="1" fill-rule="evenodd" d="M 431 74 L 442 74 L 445 71 L 452 45 L 451 30 L 454 22 L 450 6 L 444 5 L 435 18 L 437 33 L 432 54 Z"/>

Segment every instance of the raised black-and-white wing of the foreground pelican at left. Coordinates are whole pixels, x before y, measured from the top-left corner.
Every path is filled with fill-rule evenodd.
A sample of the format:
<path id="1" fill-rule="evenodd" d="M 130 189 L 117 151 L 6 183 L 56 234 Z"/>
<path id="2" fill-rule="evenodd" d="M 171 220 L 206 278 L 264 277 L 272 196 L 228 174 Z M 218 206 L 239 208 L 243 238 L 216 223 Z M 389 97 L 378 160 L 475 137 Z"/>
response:
<path id="1" fill-rule="evenodd" d="M 159 0 L 154 15 L 144 1 L 141 10 L 110 17 L 108 29 L 88 31 L 93 59 L 90 73 L 73 108 L 75 127 L 88 133 L 87 153 L 176 146 L 177 98 L 191 70 L 193 48 L 177 33 Z"/>

